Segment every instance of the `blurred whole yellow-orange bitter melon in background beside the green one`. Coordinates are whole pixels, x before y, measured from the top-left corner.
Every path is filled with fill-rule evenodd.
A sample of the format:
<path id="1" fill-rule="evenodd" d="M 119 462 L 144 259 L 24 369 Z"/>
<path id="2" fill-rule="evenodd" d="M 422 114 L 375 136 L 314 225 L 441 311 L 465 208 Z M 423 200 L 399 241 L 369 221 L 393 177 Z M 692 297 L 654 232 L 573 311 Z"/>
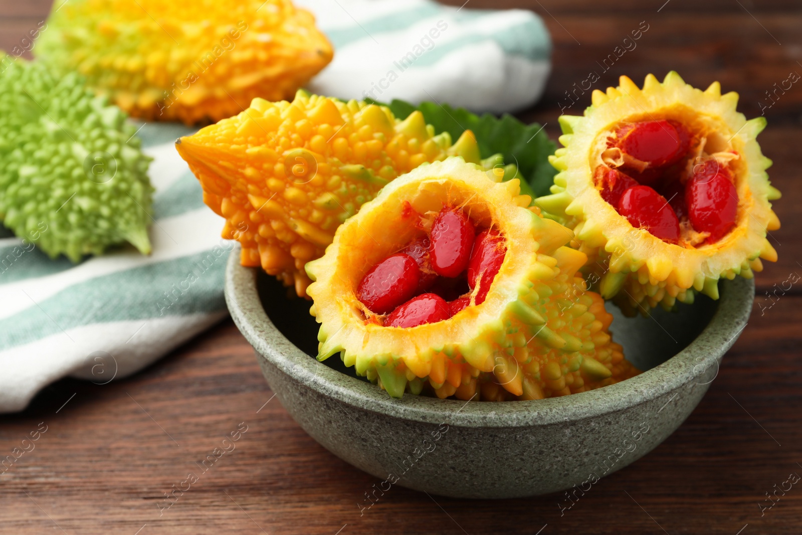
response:
<path id="1" fill-rule="evenodd" d="M 135 117 L 217 121 L 251 99 L 289 99 L 331 61 L 289 0 L 56 2 L 34 49 Z"/>

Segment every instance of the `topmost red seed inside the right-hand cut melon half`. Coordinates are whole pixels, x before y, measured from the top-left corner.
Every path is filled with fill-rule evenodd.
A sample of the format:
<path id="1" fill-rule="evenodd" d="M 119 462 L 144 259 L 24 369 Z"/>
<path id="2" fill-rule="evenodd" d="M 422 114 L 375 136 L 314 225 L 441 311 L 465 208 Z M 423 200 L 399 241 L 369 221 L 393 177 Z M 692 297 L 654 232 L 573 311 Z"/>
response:
<path id="1" fill-rule="evenodd" d="M 617 132 L 618 148 L 654 167 L 673 164 L 687 153 L 688 133 L 676 121 L 643 121 Z"/>

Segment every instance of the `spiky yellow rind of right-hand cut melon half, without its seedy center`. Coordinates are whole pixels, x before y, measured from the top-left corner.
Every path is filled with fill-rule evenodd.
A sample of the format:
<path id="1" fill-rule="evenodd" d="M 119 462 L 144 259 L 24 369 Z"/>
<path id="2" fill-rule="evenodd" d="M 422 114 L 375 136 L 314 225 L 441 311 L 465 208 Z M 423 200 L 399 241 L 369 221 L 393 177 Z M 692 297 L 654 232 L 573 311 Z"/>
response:
<path id="1" fill-rule="evenodd" d="M 646 76 L 642 89 L 622 76 L 619 87 L 593 91 L 593 105 L 584 116 L 560 117 L 564 147 L 550 158 L 558 170 L 553 194 L 538 198 L 536 204 L 574 230 L 573 246 L 588 255 L 585 271 L 597 282 L 593 287 L 625 313 L 648 314 L 658 305 L 671 309 L 677 301 L 693 302 L 695 292 L 718 298 L 719 278 L 751 278 L 753 271 L 762 270 L 760 258 L 776 261 L 766 236 L 767 230 L 780 228 L 770 202 L 780 198 L 780 192 L 766 173 L 772 161 L 755 140 L 766 121 L 747 121 L 735 111 L 737 103 L 735 92 L 721 95 L 718 82 L 701 91 L 672 71 L 662 83 L 654 75 Z M 593 155 L 604 132 L 622 121 L 666 116 L 703 120 L 739 152 L 736 226 L 715 244 L 686 248 L 635 229 L 594 187 L 598 162 Z"/>

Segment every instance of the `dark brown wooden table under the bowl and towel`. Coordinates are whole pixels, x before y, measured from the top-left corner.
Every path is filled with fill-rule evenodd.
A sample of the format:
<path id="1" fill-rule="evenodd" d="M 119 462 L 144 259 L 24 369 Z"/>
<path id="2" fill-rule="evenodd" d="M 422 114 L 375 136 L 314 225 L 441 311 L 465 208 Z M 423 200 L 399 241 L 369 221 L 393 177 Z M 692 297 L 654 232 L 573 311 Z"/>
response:
<path id="1" fill-rule="evenodd" d="M 464 0 L 452 2 L 459 5 Z M 49 9 L 47 0 L 0 2 L 0 47 L 10 50 Z M 597 71 L 606 87 L 675 69 L 699 87 L 719 79 L 759 103 L 791 71 L 802 73 L 799 0 L 473 0 L 467 7 L 525 7 L 553 35 L 553 75 L 520 114 L 556 137 L 564 91 Z M 637 48 L 603 71 L 597 62 L 645 21 Z M 589 95 L 569 112 L 589 103 Z M 358 503 L 378 480 L 324 450 L 287 415 L 232 322 L 225 321 L 131 379 L 63 380 L 18 415 L 2 417 L 0 456 L 47 428 L 0 478 L 2 533 L 756 533 L 802 532 L 802 486 L 767 501 L 802 474 L 802 83 L 766 111 L 760 136 L 774 160 L 783 229 L 776 265 L 757 277 L 755 311 L 699 408 L 664 444 L 594 485 L 561 516 L 560 495 L 466 501 L 394 487 L 370 510 Z M 785 285 L 788 286 L 787 284 Z M 43 423 L 40 426 L 40 423 Z M 165 492 L 224 436 L 236 443 L 169 509 Z M 786 484 L 787 486 L 787 484 Z M 186 488 L 186 484 L 184 484 Z M 178 493 L 176 493 L 178 494 Z M 774 503 L 761 515 L 759 504 Z"/>

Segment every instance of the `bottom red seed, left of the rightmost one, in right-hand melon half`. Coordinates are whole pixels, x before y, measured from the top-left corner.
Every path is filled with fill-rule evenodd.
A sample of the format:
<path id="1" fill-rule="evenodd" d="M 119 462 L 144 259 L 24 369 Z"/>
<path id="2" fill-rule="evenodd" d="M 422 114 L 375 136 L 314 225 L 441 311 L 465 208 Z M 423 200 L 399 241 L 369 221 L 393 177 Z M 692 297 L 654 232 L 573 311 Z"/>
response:
<path id="1" fill-rule="evenodd" d="M 665 241 L 679 240 L 679 220 L 666 198 L 649 186 L 629 188 L 618 202 L 618 213 L 636 229 L 647 229 Z"/>

